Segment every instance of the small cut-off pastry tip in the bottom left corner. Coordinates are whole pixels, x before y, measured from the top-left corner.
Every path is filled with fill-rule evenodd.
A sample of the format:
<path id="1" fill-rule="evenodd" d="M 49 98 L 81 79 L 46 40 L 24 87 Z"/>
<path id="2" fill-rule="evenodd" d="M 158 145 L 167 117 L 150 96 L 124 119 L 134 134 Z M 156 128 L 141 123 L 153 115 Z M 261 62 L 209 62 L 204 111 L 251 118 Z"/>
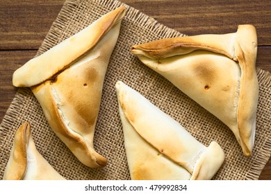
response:
<path id="1" fill-rule="evenodd" d="M 15 133 L 4 180 L 58 180 L 65 178 L 40 155 L 29 123 L 23 123 Z"/>

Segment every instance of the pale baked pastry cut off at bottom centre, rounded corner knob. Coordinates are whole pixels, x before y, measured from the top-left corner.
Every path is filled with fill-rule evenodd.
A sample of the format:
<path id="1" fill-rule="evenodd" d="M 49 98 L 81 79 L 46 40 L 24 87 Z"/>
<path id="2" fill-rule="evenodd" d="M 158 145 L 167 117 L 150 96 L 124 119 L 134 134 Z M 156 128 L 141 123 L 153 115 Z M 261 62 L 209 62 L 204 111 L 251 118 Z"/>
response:
<path id="1" fill-rule="evenodd" d="M 211 179 L 217 173 L 224 161 L 218 143 L 199 143 L 123 82 L 116 89 L 131 179 Z"/>

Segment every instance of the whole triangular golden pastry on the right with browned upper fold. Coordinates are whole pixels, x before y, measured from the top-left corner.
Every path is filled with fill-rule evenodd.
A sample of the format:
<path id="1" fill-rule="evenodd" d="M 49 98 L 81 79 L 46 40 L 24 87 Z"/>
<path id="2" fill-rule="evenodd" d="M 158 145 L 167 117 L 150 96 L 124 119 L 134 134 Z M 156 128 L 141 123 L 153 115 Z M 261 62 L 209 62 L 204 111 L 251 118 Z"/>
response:
<path id="1" fill-rule="evenodd" d="M 131 52 L 226 124 L 243 154 L 252 155 L 258 103 L 257 37 L 252 25 L 236 33 L 161 39 Z"/>

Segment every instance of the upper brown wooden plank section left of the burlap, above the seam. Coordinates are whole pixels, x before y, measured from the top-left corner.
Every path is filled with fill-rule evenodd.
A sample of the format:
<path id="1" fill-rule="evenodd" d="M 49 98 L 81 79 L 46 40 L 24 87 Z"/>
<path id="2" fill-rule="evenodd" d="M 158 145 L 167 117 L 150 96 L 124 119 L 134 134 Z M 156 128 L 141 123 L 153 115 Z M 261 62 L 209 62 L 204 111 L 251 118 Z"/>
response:
<path id="1" fill-rule="evenodd" d="M 0 50 L 38 49 L 64 2 L 0 1 Z"/>

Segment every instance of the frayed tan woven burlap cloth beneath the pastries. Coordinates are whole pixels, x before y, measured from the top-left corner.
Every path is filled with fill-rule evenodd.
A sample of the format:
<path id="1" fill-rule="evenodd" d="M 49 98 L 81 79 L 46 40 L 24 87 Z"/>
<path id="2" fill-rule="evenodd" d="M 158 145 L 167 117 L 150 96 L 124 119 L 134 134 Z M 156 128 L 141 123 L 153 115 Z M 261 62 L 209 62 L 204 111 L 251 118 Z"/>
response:
<path id="1" fill-rule="evenodd" d="M 37 55 L 121 5 L 124 4 L 120 1 L 110 0 L 66 1 Z M 260 91 L 256 114 L 256 139 L 252 157 L 247 158 L 226 125 L 165 78 L 142 64 L 129 51 L 134 44 L 182 34 L 159 24 L 139 10 L 129 6 L 126 8 L 120 37 L 110 58 L 104 81 L 94 138 L 95 149 L 108 159 L 108 165 L 105 168 L 92 169 L 81 164 L 51 130 L 31 90 L 23 88 L 18 90 L 0 125 L 0 179 L 3 178 L 15 131 L 25 121 L 31 124 L 33 139 L 41 155 L 63 177 L 77 180 L 131 179 L 117 107 L 117 80 L 122 80 L 139 91 L 151 103 L 181 123 L 199 142 L 208 146 L 211 141 L 217 141 L 221 145 L 226 158 L 213 179 L 258 179 L 271 153 L 270 73 L 257 69 Z"/>

